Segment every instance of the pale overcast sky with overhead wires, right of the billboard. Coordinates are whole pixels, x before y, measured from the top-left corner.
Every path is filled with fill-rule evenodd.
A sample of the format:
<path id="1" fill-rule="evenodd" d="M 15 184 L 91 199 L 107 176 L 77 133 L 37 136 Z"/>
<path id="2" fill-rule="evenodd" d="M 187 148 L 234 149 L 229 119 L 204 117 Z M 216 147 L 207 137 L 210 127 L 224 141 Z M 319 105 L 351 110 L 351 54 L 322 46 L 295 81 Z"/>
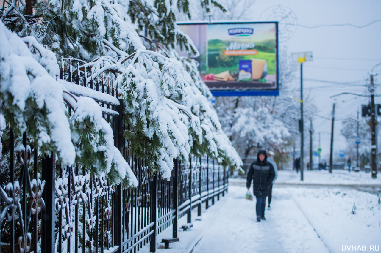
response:
<path id="1" fill-rule="evenodd" d="M 277 5 L 287 8 L 275 8 Z M 275 9 L 274 9 L 275 8 Z M 381 62 L 381 22 L 375 22 L 363 28 L 345 26 L 317 25 L 353 24 L 366 25 L 372 21 L 381 20 L 381 1 L 379 0 L 257 0 L 253 20 L 271 19 L 272 13 L 283 13 L 285 18 L 280 22 L 280 33 L 286 36 L 280 38 L 284 42 L 280 46 L 287 46 L 288 51 L 304 52 L 312 51 L 313 62 L 303 65 L 303 89 L 304 97 L 314 96 L 314 104 L 319 109 L 318 114 L 331 118 L 333 103 L 336 103 L 335 116 L 338 119 L 345 117 L 357 117 L 357 110 L 361 104 L 368 104 L 366 97 L 342 95 L 334 101 L 331 95 L 341 91 L 350 91 L 365 94 L 369 84 L 371 68 Z M 287 25 L 299 24 L 299 25 Z M 303 25 L 303 26 L 302 26 Z M 288 40 L 287 40 L 288 39 Z M 287 40 L 287 41 L 285 41 Z M 381 74 L 381 65 L 375 68 L 376 73 Z M 300 88 L 300 77 L 297 76 L 293 87 Z M 317 80 L 329 81 L 319 82 Z M 362 81 L 361 81 L 362 80 Z M 380 83 L 381 78 L 376 76 L 375 84 Z M 335 82 L 353 82 L 350 85 L 337 84 Z M 381 89 L 377 89 L 381 93 Z M 345 101 L 345 102 L 343 102 Z M 376 103 L 381 103 L 376 98 Z M 360 112 L 361 113 L 361 112 Z M 361 114 L 360 114 L 361 117 Z M 314 149 L 318 145 L 318 132 L 330 132 L 331 121 L 320 117 L 314 117 Z M 305 129 L 309 128 L 309 118 L 304 117 Z M 341 121 L 335 122 L 334 152 L 345 149 L 346 142 L 339 130 Z M 305 136 L 305 147 L 309 146 L 309 136 Z M 330 135 L 321 133 L 322 158 L 329 155 Z M 307 148 L 305 150 L 307 152 Z M 347 155 L 345 156 L 347 157 Z"/>

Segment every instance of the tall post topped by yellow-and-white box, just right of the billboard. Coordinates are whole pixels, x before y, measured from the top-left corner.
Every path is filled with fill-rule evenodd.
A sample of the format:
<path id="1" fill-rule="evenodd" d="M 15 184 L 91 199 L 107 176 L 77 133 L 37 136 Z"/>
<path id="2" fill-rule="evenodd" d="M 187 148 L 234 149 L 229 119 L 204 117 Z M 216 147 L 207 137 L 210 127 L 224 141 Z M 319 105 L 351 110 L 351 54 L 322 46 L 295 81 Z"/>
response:
<path id="1" fill-rule="evenodd" d="M 293 53 L 293 62 L 300 63 L 300 180 L 304 180 L 303 175 L 303 158 L 304 158 L 304 122 L 303 122 L 303 62 L 312 62 L 312 52 Z"/>

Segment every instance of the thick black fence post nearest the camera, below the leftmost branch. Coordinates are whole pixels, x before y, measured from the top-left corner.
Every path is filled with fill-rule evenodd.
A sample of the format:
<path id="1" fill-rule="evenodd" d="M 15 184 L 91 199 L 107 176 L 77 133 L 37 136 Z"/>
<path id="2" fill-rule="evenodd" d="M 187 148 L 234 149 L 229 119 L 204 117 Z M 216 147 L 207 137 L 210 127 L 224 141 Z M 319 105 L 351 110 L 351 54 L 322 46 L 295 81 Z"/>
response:
<path id="1" fill-rule="evenodd" d="M 56 182 L 56 155 L 51 153 L 50 157 L 42 158 L 42 180 L 45 187 L 42 198 L 45 209 L 42 209 L 41 221 L 41 253 L 53 253 L 54 250 L 54 227 L 55 227 L 55 182 Z"/>

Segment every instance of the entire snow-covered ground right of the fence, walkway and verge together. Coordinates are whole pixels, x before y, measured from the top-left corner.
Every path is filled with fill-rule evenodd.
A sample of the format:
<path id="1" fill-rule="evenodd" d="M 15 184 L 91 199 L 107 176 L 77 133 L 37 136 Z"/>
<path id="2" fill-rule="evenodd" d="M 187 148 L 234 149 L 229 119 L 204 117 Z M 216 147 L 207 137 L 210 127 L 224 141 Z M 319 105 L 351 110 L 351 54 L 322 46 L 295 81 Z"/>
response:
<path id="1" fill-rule="evenodd" d="M 245 185 L 233 185 L 233 181 L 242 183 L 243 180 L 230 179 L 229 192 L 208 210 L 202 205 L 201 221 L 195 220 L 197 210 L 194 210 L 194 227 L 179 231 L 180 241 L 171 243 L 170 249 L 164 249 L 160 241 L 171 237 L 171 227 L 160 233 L 156 252 L 381 251 L 380 198 L 376 194 L 332 186 L 356 182 L 373 185 L 379 183 L 378 179 L 368 180 L 370 174 L 365 172 L 354 172 L 352 176 L 347 171 L 334 171 L 332 175 L 325 171 L 305 171 L 304 176 L 304 182 L 311 177 L 311 183 L 329 180 L 330 186 L 294 185 L 300 174 L 280 171 L 279 186 L 273 187 L 271 210 L 266 209 L 267 220 L 261 222 L 255 219 L 255 200 L 245 199 Z M 183 217 L 179 226 L 185 223 Z M 149 252 L 149 248 L 143 248 L 142 252 Z"/>

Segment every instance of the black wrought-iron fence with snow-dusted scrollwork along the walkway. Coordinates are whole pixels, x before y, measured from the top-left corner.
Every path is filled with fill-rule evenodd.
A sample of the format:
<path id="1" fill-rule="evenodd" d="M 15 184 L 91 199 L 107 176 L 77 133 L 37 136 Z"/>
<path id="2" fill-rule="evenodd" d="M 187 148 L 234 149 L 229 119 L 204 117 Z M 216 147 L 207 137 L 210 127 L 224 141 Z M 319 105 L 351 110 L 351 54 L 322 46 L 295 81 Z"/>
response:
<path id="1" fill-rule="evenodd" d="M 118 98 L 109 77 L 91 77 L 79 67 L 72 71 L 71 63 L 67 69 L 65 73 L 62 65 L 61 79 Z M 191 222 L 192 209 L 201 215 L 202 204 L 207 209 L 227 191 L 227 170 L 208 157 L 191 157 L 189 166 L 174 160 L 169 181 L 160 173 L 152 174 L 146 160 L 134 157 L 123 138 L 123 100 L 105 103 L 94 94 L 138 186 L 113 186 L 105 176 L 93 175 L 78 164 L 61 166 L 54 153 L 39 156 L 37 140 L 28 139 L 27 132 L 20 137 L 10 130 L 2 137 L 0 253 L 122 253 L 147 244 L 154 252 L 157 234 L 172 228 L 177 237 L 179 218 L 186 215 Z"/>

